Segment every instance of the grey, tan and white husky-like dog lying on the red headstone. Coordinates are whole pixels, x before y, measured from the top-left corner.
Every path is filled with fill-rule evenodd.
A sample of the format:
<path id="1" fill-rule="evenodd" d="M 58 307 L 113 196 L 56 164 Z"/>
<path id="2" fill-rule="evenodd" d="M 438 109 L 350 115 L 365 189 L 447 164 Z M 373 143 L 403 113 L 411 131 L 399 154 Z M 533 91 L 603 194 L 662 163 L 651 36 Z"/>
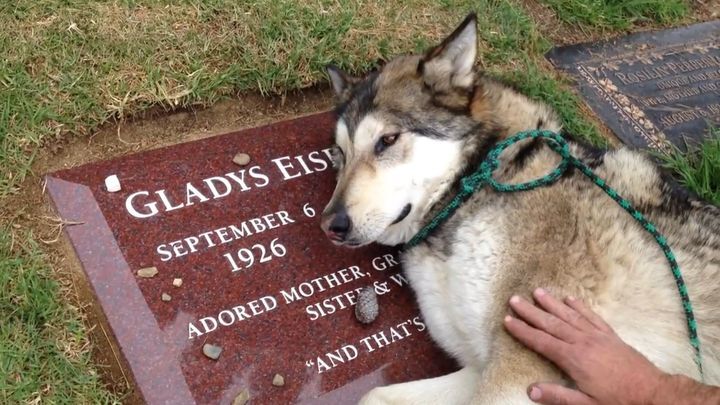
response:
<path id="1" fill-rule="evenodd" d="M 562 130 L 552 108 L 476 69 L 476 30 L 471 14 L 425 54 L 396 57 L 362 78 L 328 67 L 338 98 L 331 153 L 337 186 L 321 227 L 333 243 L 405 243 L 498 142 L 525 130 Z M 720 210 L 640 152 L 569 143 L 667 238 L 692 299 L 705 382 L 717 385 Z M 545 141 L 528 139 L 503 152 L 494 176 L 524 182 L 559 162 Z M 537 286 L 583 299 L 662 370 L 700 378 L 661 249 L 578 170 L 531 191 L 476 191 L 406 249 L 402 263 L 430 335 L 461 369 L 375 388 L 361 403 L 522 404 L 530 403 L 525 392 L 533 382 L 572 385 L 502 326 L 508 299 Z"/>

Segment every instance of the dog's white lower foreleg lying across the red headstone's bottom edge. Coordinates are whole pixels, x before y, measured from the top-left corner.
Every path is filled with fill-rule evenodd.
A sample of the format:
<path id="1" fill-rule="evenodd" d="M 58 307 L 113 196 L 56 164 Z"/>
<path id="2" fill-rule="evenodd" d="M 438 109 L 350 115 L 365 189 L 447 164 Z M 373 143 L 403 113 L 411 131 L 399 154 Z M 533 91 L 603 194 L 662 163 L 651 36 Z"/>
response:
<path id="1" fill-rule="evenodd" d="M 472 368 L 436 378 L 378 387 L 368 392 L 360 405 L 467 404 L 479 374 Z"/>

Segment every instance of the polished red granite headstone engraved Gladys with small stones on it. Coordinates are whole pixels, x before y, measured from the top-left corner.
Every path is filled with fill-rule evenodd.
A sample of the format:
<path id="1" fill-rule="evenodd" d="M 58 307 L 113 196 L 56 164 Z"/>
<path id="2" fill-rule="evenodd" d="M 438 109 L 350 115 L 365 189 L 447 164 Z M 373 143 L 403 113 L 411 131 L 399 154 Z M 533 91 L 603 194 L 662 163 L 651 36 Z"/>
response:
<path id="1" fill-rule="evenodd" d="M 147 403 L 229 404 L 246 389 L 261 404 L 349 403 L 453 369 L 424 330 L 397 252 L 334 247 L 320 230 L 333 126 L 320 114 L 47 177 Z M 233 163 L 238 152 L 247 166 Z M 119 192 L 105 188 L 112 175 Z M 138 276 L 151 266 L 157 275 Z M 353 303 L 367 285 L 381 309 L 362 325 Z M 217 360 L 206 343 L 222 348 Z"/>

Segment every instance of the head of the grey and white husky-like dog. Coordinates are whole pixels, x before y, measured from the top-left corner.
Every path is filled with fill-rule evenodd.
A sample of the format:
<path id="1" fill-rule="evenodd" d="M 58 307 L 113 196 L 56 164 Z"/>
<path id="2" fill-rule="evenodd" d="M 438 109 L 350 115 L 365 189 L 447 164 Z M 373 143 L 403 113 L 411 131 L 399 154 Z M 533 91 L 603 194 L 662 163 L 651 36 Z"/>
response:
<path id="1" fill-rule="evenodd" d="M 365 78 L 329 67 L 339 98 L 337 187 L 322 228 L 337 244 L 397 244 L 461 169 L 477 53 L 475 15 L 424 55 L 401 56 Z"/>

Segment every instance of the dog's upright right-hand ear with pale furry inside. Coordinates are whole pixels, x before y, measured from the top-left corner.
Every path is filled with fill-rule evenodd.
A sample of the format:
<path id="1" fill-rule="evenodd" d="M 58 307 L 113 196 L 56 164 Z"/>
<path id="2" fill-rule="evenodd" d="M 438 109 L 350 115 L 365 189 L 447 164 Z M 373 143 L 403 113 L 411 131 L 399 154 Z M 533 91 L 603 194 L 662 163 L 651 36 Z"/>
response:
<path id="1" fill-rule="evenodd" d="M 438 46 L 431 48 L 418 65 L 418 73 L 435 90 L 470 88 L 475 79 L 477 56 L 477 17 L 470 13 Z"/>

